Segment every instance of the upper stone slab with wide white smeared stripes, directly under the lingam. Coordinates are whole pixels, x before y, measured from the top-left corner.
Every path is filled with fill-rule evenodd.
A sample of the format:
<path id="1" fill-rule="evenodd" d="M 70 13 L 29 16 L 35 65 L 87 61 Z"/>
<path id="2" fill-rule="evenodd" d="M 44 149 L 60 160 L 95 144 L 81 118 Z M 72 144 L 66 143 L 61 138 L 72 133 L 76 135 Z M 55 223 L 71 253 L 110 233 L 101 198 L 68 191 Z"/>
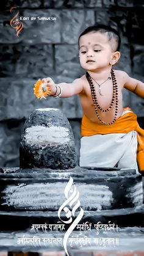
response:
<path id="1" fill-rule="evenodd" d="M 65 187 L 70 178 L 79 191 L 84 211 L 136 207 L 143 203 L 142 176 L 131 169 L 1 169 L 0 177 L 1 211 L 58 211 L 66 200 Z"/>

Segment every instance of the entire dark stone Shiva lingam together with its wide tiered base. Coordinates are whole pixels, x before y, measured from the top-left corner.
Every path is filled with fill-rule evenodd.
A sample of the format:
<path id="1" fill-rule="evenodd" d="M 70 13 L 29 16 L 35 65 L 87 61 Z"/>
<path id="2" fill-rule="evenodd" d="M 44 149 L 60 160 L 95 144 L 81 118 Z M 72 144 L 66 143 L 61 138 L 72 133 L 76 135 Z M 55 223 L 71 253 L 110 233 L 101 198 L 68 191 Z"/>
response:
<path id="1" fill-rule="evenodd" d="M 20 243 L 20 236 L 63 237 L 65 231 L 57 235 L 56 226 L 60 221 L 59 227 L 62 225 L 62 218 L 65 223 L 70 218 L 70 208 L 74 211 L 74 202 L 60 211 L 69 200 L 65 195 L 71 178 L 79 191 L 76 216 L 83 210 L 79 225 L 115 222 L 119 227 L 144 226 L 142 175 L 133 169 L 79 167 L 70 124 L 59 109 L 35 109 L 29 115 L 21 134 L 20 168 L 1 167 L 0 177 L 1 250 L 34 251 L 30 241 Z M 41 234 L 44 224 L 55 225 L 55 230 Z M 49 250 L 49 243 L 44 242 Z"/>

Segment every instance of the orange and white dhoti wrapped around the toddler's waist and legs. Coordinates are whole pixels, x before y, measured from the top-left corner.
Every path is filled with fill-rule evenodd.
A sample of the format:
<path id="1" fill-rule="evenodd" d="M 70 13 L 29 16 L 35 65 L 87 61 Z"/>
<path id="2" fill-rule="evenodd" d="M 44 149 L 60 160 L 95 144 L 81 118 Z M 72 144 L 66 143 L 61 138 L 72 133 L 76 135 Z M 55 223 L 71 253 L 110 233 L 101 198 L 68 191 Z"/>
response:
<path id="1" fill-rule="evenodd" d="M 101 135 L 101 136 L 97 136 L 98 140 L 95 137 L 97 134 Z M 105 145 L 103 144 L 104 134 L 108 135 L 106 136 L 107 141 Z M 135 115 L 134 112 L 131 111 L 131 109 L 125 108 L 123 115 L 121 115 L 121 117 L 119 117 L 116 120 L 116 122 L 113 123 L 113 125 L 103 125 L 103 123 L 99 123 L 99 124 L 94 123 L 84 115 L 82 118 L 81 136 L 82 136 L 82 139 L 81 139 L 81 152 L 80 152 L 80 166 L 84 166 L 86 164 L 85 162 L 86 159 L 84 160 L 84 158 L 87 156 L 87 154 L 90 153 L 90 151 L 92 151 L 92 157 L 93 157 L 93 155 L 95 155 L 95 149 L 96 149 L 96 152 L 99 152 L 99 150 L 103 150 L 104 152 L 105 151 L 104 147 L 105 147 L 107 149 L 106 150 L 107 154 L 109 154 L 110 147 L 113 147 L 114 145 L 114 148 L 112 148 L 110 152 L 112 153 L 112 152 L 115 152 L 116 150 L 117 154 L 112 153 L 112 155 L 109 155 L 110 158 L 114 158 L 116 155 L 118 155 L 118 147 L 120 146 L 119 150 L 122 150 L 123 152 L 118 155 L 120 159 L 117 159 L 116 161 L 119 162 L 119 161 L 122 161 L 122 159 L 125 159 L 124 161 L 126 162 L 127 161 L 126 158 L 128 158 L 128 156 L 131 154 L 131 158 L 129 159 L 129 162 L 127 161 L 128 163 L 131 163 L 131 159 L 134 159 L 134 156 L 132 154 L 134 154 L 136 150 L 137 152 L 136 158 L 137 158 L 139 170 L 144 171 L 144 130 L 140 128 L 139 124 L 137 123 L 137 115 Z M 116 139 L 115 141 L 113 141 L 113 144 L 112 144 L 113 137 L 116 137 Z M 90 147 L 90 145 L 88 147 L 88 144 L 87 144 L 88 141 L 91 141 L 90 145 L 93 144 L 93 147 L 95 148 Z M 131 150 L 130 150 L 130 146 L 131 146 Z M 84 155 L 84 151 L 85 151 L 85 155 Z M 104 154 L 103 152 L 101 156 L 106 155 L 106 152 L 104 152 Z M 103 161 L 103 159 L 98 159 L 98 161 Z M 85 163 L 85 164 L 82 164 L 82 163 Z M 95 166 L 98 166 L 98 164 L 95 163 Z M 135 164 L 131 166 L 132 168 L 136 169 Z M 131 166 L 129 166 L 129 168 L 131 168 Z M 105 166 L 105 167 L 109 167 L 109 166 Z M 111 167 L 114 167 L 114 166 L 111 166 Z M 128 168 L 128 166 L 126 168 Z"/>

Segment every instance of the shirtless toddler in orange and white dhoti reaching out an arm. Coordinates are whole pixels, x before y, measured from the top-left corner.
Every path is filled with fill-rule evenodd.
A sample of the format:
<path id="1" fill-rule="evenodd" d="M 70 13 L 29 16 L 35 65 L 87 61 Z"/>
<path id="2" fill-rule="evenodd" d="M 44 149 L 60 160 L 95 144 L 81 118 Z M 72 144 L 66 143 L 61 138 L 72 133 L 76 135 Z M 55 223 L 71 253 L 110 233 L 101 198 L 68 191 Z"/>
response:
<path id="1" fill-rule="evenodd" d="M 122 98 L 123 87 L 144 98 L 144 83 L 124 71 L 113 70 L 119 59 L 118 32 L 109 26 L 91 26 L 79 36 L 79 60 L 85 75 L 71 84 L 57 85 L 51 78 L 42 79 L 51 88 L 51 97 L 79 94 L 84 112 L 80 166 L 138 170 L 139 160 L 139 169 L 144 170 L 144 131 L 133 120 L 131 109 L 124 112 Z M 137 141 L 141 145 L 137 146 Z"/>

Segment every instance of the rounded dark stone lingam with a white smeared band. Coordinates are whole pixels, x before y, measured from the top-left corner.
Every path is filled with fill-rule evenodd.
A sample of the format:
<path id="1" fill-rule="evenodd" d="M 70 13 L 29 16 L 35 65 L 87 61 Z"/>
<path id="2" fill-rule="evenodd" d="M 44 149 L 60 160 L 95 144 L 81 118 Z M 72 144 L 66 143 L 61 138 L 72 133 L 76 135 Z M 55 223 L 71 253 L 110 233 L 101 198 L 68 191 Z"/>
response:
<path id="1" fill-rule="evenodd" d="M 70 169 L 76 166 L 73 133 L 59 109 L 35 109 L 24 123 L 20 167 Z"/>

